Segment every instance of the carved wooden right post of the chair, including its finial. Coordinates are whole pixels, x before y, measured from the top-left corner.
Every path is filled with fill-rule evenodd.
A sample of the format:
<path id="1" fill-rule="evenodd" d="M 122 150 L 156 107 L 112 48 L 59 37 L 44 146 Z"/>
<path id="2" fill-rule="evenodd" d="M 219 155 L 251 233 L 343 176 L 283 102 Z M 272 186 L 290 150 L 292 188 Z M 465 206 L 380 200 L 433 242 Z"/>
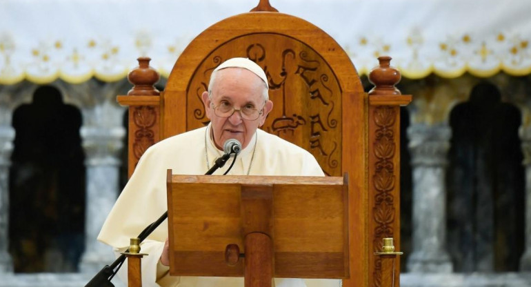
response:
<path id="1" fill-rule="evenodd" d="M 374 88 L 369 92 L 369 250 L 381 251 L 384 237 L 397 239 L 400 246 L 400 106 L 411 101 L 410 95 L 401 95 L 394 87 L 400 72 L 390 66 L 391 57 L 379 57 L 379 66 L 372 69 L 369 80 Z M 390 287 L 384 277 L 393 274 L 399 286 L 400 264 L 397 272 L 388 270 L 387 258 L 369 257 L 370 287 Z M 385 266 L 383 261 L 386 262 Z"/>

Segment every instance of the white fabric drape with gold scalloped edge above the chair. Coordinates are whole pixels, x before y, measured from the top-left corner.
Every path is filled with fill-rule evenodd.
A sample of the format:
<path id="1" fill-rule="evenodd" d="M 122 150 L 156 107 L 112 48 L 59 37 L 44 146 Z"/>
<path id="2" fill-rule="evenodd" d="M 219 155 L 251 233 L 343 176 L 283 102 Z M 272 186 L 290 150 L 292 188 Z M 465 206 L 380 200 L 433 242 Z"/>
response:
<path id="1" fill-rule="evenodd" d="M 249 0 L 0 1 L 0 84 L 117 81 L 139 56 L 163 77 L 208 26 Z M 531 73 L 531 1 L 270 0 L 328 32 L 360 74 L 393 57 L 403 77 Z"/>

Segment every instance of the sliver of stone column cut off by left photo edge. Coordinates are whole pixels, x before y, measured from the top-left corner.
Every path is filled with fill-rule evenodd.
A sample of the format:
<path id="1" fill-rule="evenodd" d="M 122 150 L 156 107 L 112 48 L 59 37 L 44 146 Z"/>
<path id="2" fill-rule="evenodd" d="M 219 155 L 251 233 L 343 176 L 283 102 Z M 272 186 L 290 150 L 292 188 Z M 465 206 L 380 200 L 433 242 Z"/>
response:
<path id="1" fill-rule="evenodd" d="M 0 126 L 0 274 L 11 273 L 13 262 L 9 244 L 9 168 L 14 129 Z"/>

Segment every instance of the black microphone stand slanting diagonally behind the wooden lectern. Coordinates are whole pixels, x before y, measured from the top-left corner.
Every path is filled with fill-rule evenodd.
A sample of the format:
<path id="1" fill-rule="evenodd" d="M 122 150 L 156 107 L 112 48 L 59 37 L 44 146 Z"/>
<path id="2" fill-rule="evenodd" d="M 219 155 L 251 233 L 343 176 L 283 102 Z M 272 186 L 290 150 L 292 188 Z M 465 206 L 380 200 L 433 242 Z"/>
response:
<path id="1" fill-rule="evenodd" d="M 225 163 L 230 158 L 231 153 L 226 153 L 225 155 L 222 155 L 216 161 L 214 161 L 214 166 L 208 170 L 208 172 L 205 173 L 205 175 L 212 175 L 214 171 L 216 171 L 218 168 L 222 168 L 225 166 Z M 234 161 L 236 161 L 237 153 L 234 153 Z M 232 168 L 232 165 L 230 166 Z M 229 169 L 230 169 L 229 168 Z M 228 171 L 228 170 L 227 170 Z M 140 232 L 138 238 L 140 239 L 139 242 L 142 242 L 148 235 L 151 234 L 159 225 L 161 225 L 162 221 L 166 220 L 168 218 L 168 211 L 164 212 L 157 221 L 154 221 L 152 224 L 146 226 L 142 232 Z M 126 250 L 126 253 L 129 252 Z M 120 255 L 112 264 L 106 265 L 103 267 L 99 272 L 85 285 L 85 287 L 114 287 L 114 284 L 110 282 L 112 277 L 118 273 L 118 270 L 120 269 L 121 265 L 123 264 L 123 261 L 126 261 L 126 255 Z M 116 269 L 116 270 L 114 270 Z"/>

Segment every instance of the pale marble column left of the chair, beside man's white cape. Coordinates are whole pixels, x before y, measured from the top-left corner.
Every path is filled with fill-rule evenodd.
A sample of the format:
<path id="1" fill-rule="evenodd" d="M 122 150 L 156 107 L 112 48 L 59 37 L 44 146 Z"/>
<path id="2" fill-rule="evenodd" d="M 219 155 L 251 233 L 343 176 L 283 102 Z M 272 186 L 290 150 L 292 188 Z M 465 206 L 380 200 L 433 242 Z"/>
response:
<path id="1" fill-rule="evenodd" d="M 86 244 L 80 264 L 83 273 L 97 273 L 115 259 L 110 246 L 97 241 L 97 236 L 117 199 L 121 164 L 118 152 L 123 146 L 124 135 L 122 127 L 81 128 L 87 168 Z"/>

